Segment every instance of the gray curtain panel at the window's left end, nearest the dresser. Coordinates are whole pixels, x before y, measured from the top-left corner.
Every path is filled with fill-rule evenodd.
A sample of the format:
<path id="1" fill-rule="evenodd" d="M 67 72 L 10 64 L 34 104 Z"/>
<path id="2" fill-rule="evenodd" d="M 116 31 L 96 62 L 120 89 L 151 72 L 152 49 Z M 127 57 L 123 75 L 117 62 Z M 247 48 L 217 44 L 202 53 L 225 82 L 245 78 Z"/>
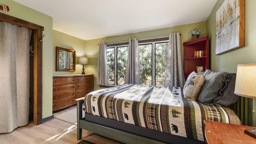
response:
<path id="1" fill-rule="evenodd" d="M 107 44 L 101 42 L 99 44 L 97 84 L 108 85 L 107 64 Z"/>

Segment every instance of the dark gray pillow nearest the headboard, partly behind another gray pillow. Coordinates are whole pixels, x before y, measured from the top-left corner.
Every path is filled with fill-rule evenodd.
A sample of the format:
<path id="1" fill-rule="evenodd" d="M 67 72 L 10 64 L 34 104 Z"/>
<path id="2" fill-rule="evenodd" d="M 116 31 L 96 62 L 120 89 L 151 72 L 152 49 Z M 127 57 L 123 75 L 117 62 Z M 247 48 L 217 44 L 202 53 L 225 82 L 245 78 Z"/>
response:
<path id="1" fill-rule="evenodd" d="M 214 105 L 215 106 L 229 106 L 234 104 L 237 99 L 238 95 L 234 94 L 235 85 L 236 85 L 236 75 L 232 74 L 227 78 L 229 80 L 226 88 L 221 92 L 222 96 L 217 96 L 214 98 Z"/>

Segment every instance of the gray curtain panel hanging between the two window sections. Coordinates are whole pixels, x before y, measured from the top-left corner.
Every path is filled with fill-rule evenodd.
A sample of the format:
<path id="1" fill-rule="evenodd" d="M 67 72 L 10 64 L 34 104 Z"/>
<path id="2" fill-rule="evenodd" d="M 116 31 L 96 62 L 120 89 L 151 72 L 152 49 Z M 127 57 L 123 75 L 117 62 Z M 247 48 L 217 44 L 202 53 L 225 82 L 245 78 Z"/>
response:
<path id="1" fill-rule="evenodd" d="M 136 38 L 129 39 L 125 84 L 140 84 L 139 46 Z"/>

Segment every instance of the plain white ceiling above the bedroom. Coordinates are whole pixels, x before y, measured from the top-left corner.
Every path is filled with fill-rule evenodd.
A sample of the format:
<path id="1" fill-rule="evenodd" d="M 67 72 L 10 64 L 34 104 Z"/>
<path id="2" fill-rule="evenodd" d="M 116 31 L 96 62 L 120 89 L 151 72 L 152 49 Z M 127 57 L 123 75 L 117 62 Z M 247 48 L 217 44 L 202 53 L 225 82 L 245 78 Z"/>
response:
<path id="1" fill-rule="evenodd" d="M 14 0 L 53 18 L 53 29 L 91 40 L 205 21 L 218 0 Z"/>

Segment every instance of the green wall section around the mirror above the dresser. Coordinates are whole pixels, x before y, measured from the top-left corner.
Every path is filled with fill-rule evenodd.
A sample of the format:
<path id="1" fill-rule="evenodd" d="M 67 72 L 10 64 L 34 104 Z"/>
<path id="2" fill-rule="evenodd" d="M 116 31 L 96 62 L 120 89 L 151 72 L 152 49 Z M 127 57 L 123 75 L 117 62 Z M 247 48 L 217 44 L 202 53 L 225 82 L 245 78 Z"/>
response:
<path id="1" fill-rule="evenodd" d="M 79 57 L 84 57 L 86 54 L 85 50 L 86 41 L 68 34 L 64 34 L 57 30 L 53 30 L 53 43 L 52 43 L 52 70 L 53 75 L 62 75 L 62 74 L 81 74 L 82 73 L 82 64 L 78 64 Z M 67 48 L 70 50 L 76 51 L 76 71 L 75 72 L 57 72 L 56 71 L 56 46 L 61 48 Z M 85 65 L 85 68 L 88 65 Z M 85 70 L 85 73 L 88 72 Z"/>

